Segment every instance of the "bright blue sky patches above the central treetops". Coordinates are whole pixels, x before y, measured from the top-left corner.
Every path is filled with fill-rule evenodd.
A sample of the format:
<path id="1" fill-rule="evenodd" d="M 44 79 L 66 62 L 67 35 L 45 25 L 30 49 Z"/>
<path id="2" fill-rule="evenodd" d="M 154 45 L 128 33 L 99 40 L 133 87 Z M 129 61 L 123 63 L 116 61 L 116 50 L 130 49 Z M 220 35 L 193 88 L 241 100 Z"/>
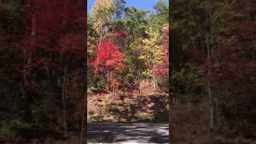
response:
<path id="1" fill-rule="evenodd" d="M 87 0 L 87 13 L 90 12 L 91 7 L 94 5 L 96 0 Z M 126 6 L 134 6 L 142 10 L 154 11 L 154 4 L 158 0 L 126 0 Z"/>

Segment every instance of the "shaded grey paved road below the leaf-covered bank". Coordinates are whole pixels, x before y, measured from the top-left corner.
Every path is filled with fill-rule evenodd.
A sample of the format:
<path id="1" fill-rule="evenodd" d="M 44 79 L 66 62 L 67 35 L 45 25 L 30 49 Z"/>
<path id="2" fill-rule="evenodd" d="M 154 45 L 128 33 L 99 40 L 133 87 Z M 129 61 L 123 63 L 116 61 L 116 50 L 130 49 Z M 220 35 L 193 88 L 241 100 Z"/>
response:
<path id="1" fill-rule="evenodd" d="M 88 124 L 88 143 L 168 143 L 168 123 L 93 122 Z"/>

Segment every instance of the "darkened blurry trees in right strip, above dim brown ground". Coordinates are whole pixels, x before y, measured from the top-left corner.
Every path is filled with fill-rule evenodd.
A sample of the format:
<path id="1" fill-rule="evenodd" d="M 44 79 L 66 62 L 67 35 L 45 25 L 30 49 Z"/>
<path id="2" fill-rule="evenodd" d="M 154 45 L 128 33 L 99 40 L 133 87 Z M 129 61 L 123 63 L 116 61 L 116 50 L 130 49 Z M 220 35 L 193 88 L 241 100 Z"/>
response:
<path id="1" fill-rule="evenodd" d="M 211 133 L 255 138 L 255 4 L 170 2 L 173 105 L 206 106 Z"/>

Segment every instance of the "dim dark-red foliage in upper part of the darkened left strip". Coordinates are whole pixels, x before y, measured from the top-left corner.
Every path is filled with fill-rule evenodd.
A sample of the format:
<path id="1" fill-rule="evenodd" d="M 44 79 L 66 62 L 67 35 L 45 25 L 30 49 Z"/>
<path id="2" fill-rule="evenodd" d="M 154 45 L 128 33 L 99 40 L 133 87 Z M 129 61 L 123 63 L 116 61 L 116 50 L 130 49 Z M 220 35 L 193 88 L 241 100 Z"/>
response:
<path id="1" fill-rule="evenodd" d="M 63 63 L 56 60 L 61 56 L 84 58 L 85 37 L 74 32 L 84 28 L 82 1 L 25 0 L 22 4 L 26 5 L 26 29 L 14 40 L 14 45 L 22 51 L 24 62 L 15 70 L 26 83 L 35 83 L 30 79 L 38 70 L 53 67 L 62 70 Z M 54 57 L 41 58 L 48 54 Z"/>

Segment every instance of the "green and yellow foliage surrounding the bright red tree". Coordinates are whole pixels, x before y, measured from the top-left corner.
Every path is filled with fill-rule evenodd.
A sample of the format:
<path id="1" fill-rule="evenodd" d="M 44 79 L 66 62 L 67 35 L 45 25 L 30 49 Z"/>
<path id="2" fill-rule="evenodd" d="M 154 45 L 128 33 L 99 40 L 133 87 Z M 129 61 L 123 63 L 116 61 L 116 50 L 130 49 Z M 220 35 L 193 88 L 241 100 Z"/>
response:
<path id="1" fill-rule="evenodd" d="M 157 14 L 153 14 L 158 22 L 151 22 L 152 19 L 148 15 L 150 11 L 140 10 L 133 6 L 126 7 L 126 2 L 123 0 L 116 0 L 112 4 L 101 6 L 101 2 L 95 2 L 90 18 L 88 18 L 87 53 L 92 62 L 95 59 L 94 50 L 97 43 L 106 39 L 114 42 L 124 54 L 124 64 L 127 66 L 124 73 L 116 75 L 116 79 L 121 84 L 120 90 L 138 89 L 140 81 L 152 78 L 154 73 L 149 67 L 162 62 L 162 26 L 168 22 L 169 8 L 166 2 L 158 2 L 154 7 Z M 103 20 L 102 14 L 106 14 L 108 19 Z M 99 19 L 102 21 L 99 22 Z M 119 32 L 122 33 L 122 37 L 116 38 L 115 34 Z M 94 67 L 90 65 L 90 62 L 88 68 L 93 70 Z M 89 86 L 94 87 L 96 91 L 107 86 L 108 83 L 104 80 L 106 73 L 100 73 L 98 78 L 92 77 L 93 75 L 89 73 Z M 92 92 L 91 89 L 89 91 Z"/>

